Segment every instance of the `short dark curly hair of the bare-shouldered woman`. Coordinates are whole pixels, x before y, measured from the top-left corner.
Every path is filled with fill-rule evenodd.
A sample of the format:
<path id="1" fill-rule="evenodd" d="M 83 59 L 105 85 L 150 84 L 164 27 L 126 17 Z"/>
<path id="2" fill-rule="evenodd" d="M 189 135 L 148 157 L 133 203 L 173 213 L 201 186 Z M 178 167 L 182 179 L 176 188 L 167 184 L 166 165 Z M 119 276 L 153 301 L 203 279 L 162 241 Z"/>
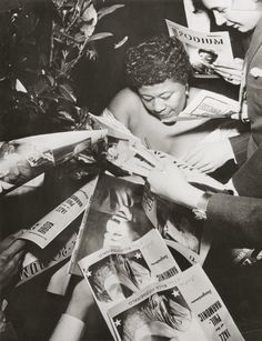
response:
<path id="1" fill-rule="evenodd" d="M 125 76 L 132 89 L 162 83 L 167 79 L 187 84 L 190 73 L 189 56 L 175 37 L 157 36 L 128 50 Z"/>

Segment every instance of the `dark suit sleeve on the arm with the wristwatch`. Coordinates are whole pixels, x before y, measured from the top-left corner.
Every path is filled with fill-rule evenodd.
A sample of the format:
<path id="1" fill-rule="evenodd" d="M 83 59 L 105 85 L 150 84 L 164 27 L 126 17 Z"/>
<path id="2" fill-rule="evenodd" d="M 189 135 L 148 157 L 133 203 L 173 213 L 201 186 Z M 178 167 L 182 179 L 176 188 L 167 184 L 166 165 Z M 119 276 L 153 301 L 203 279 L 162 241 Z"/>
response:
<path id="1" fill-rule="evenodd" d="M 262 248 L 262 199 L 213 194 L 206 217 L 220 241 L 236 248 Z"/>

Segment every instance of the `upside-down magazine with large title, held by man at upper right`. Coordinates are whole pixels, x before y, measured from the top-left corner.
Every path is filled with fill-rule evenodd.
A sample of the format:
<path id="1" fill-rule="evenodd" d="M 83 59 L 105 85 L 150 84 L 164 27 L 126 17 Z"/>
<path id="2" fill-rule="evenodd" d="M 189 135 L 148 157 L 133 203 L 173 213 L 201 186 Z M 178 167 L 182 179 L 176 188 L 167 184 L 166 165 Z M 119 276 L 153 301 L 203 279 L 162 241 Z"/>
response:
<path id="1" fill-rule="evenodd" d="M 229 32 L 201 32 L 165 20 L 170 37 L 181 40 L 190 57 L 195 78 L 219 78 L 212 64 L 233 66 Z"/>

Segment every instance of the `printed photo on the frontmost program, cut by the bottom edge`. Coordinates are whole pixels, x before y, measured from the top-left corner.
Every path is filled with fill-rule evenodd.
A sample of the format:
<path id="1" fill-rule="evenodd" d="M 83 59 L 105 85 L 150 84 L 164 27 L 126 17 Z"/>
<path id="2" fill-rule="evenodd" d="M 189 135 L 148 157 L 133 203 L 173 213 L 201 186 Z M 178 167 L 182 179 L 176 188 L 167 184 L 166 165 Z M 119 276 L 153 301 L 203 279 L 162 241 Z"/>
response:
<path id="1" fill-rule="evenodd" d="M 135 299 L 137 295 L 132 297 L 129 307 L 125 304 L 120 313 L 111 317 L 119 340 L 208 341 L 177 287 L 132 304 Z"/>

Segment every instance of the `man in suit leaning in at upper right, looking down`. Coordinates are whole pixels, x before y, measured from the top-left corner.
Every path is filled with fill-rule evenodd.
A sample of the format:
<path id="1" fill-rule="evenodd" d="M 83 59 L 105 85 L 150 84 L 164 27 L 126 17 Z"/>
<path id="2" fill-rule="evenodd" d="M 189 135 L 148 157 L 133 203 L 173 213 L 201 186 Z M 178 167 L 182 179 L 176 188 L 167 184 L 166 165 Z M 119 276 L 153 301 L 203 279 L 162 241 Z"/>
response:
<path id="1" fill-rule="evenodd" d="M 250 120 L 251 134 L 245 133 L 230 139 L 230 144 L 202 146 L 192 148 L 183 160 L 191 166 L 204 170 L 206 164 L 221 166 L 226 158 L 235 158 L 238 164 L 249 159 L 262 142 L 262 1 L 261 0 L 201 0 L 202 4 L 211 10 L 218 26 L 226 24 L 243 33 L 252 36 L 249 50 L 245 56 L 245 70 L 242 78 L 242 87 L 246 87 L 248 118 Z M 236 84 L 236 78 L 241 74 L 241 63 L 235 68 L 226 66 L 213 66 L 216 73 L 228 82 Z M 222 150 L 223 149 L 223 150 Z M 223 151 L 223 152 L 221 152 Z M 224 154 L 220 162 L 216 152 Z"/>

